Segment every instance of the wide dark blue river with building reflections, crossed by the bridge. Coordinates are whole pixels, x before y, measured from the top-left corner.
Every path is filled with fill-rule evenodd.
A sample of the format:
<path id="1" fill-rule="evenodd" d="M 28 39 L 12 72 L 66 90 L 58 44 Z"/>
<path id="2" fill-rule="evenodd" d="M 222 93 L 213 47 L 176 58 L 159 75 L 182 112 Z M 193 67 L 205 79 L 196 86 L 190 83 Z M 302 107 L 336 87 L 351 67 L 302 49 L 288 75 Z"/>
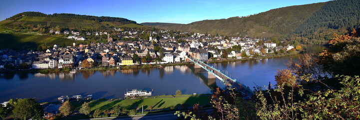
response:
<path id="1" fill-rule="evenodd" d="M 308 45 L 308 52 L 319 52 L 322 46 Z M 269 82 L 275 84 L 277 69 L 286 68 L 291 55 L 262 60 L 242 60 L 209 63 L 229 76 L 253 88 Z M 142 68 L 109 71 L 84 71 L 77 73 L 1 73 L 0 102 L 10 98 L 35 97 L 40 102 L 56 101 L 61 95 L 93 94 L 98 98 L 122 98 L 126 89 L 152 90 L 153 95 L 175 94 L 180 89 L 183 94 L 211 93 L 216 86 L 224 84 L 218 79 L 207 79 L 207 72 L 193 65 L 166 66 L 163 68 Z"/>

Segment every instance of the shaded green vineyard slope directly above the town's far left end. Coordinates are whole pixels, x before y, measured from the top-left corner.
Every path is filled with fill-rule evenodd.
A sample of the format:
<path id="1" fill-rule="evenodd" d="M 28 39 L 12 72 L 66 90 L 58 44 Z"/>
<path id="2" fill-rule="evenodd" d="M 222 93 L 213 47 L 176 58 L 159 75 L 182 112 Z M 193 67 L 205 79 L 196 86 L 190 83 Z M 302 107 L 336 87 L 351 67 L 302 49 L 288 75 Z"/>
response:
<path id="1" fill-rule="evenodd" d="M 62 45 L 64 43 L 65 45 L 71 45 L 73 42 L 80 43 L 80 41 L 49 35 L 0 33 L 0 48 L 37 48 L 38 45 L 45 45 L 45 42 L 47 46 Z"/>

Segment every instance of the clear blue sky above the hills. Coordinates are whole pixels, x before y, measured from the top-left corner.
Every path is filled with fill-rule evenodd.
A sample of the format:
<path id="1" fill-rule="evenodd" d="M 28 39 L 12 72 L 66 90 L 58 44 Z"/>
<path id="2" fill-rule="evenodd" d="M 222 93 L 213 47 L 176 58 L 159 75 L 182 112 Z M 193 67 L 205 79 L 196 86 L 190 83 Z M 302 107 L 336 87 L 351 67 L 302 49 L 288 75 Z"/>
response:
<path id="1" fill-rule="evenodd" d="M 247 16 L 328 0 L 0 0 L 0 20 L 24 11 L 114 16 L 142 22 L 191 23 Z"/>

